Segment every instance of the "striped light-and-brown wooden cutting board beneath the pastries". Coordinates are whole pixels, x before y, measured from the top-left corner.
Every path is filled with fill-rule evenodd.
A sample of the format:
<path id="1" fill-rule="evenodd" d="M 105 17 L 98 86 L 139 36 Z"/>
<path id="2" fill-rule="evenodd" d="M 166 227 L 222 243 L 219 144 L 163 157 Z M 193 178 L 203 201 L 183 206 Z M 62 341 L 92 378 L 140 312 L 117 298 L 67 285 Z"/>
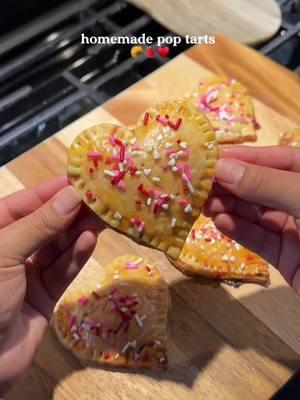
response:
<path id="1" fill-rule="evenodd" d="M 214 47 L 194 47 L 103 106 L 0 169 L 0 195 L 66 171 L 66 149 L 99 122 L 134 123 L 158 100 L 183 96 L 212 72 L 246 84 L 262 125 L 257 144 L 276 144 L 281 131 L 300 124 L 299 78 L 222 36 Z M 109 372 L 86 368 L 50 327 L 35 361 L 6 400 L 266 400 L 300 366 L 300 299 L 271 269 L 268 289 L 239 289 L 182 276 L 158 251 L 105 231 L 77 278 L 93 279 L 113 257 L 147 254 L 169 284 L 172 313 L 167 372 Z"/>

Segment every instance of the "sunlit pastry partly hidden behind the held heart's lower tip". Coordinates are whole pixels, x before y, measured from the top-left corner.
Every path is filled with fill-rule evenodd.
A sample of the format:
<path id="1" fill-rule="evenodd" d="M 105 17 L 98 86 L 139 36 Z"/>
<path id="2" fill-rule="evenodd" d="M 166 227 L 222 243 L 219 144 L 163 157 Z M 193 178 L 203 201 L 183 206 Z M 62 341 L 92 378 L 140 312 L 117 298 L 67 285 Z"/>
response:
<path id="1" fill-rule="evenodd" d="M 186 275 L 218 281 L 265 284 L 269 279 L 266 261 L 223 235 L 210 218 L 202 215 L 195 222 L 175 265 Z"/>

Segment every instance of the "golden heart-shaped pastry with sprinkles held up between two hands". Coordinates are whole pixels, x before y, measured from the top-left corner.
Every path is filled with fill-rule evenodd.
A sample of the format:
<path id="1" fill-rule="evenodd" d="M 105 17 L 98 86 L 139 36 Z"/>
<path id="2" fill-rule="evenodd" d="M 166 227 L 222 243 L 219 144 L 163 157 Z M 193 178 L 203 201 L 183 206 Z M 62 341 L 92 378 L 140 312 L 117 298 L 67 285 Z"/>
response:
<path id="1" fill-rule="evenodd" d="M 109 226 L 177 259 L 210 192 L 217 158 L 207 118 L 185 101 L 147 110 L 134 130 L 101 124 L 69 150 L 68 176 Z"/>

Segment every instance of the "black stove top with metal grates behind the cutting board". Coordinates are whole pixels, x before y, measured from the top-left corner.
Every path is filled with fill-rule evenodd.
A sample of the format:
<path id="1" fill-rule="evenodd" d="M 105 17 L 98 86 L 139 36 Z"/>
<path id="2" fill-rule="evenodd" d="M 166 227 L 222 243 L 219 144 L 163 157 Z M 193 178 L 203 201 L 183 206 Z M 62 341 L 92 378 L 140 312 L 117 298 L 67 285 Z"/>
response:
<path id="1" fill-rule="evenodd" d="M 145 60 L 131 58 L 130 45 L 81 45 L 82 32 L 154 38 L 172 34 L 122 0 L 27 0 L 23 9 L 16 8 L 17 0 L 2 1 L 7 7 L 0 16 L 0 165 L 189 47 L 182 42 L 166 58 Z M 300 72 L 299 1 L 278 2 L 282 27 L 257 49 Z M 18 10 L 13 20 L 9 9 Z"/>

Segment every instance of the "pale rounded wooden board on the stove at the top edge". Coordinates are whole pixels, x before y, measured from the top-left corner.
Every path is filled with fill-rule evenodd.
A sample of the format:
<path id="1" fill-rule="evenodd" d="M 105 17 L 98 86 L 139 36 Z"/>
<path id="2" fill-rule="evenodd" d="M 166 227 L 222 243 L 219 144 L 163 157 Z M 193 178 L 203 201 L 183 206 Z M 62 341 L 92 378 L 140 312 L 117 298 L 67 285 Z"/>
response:
<path id="1" fill-rule="evenodd" d="M 275 0 L 129 0 L 179 35 L 217 32 L 241 43 L 257 44 L 272 37 L 281 24 Z"/>

